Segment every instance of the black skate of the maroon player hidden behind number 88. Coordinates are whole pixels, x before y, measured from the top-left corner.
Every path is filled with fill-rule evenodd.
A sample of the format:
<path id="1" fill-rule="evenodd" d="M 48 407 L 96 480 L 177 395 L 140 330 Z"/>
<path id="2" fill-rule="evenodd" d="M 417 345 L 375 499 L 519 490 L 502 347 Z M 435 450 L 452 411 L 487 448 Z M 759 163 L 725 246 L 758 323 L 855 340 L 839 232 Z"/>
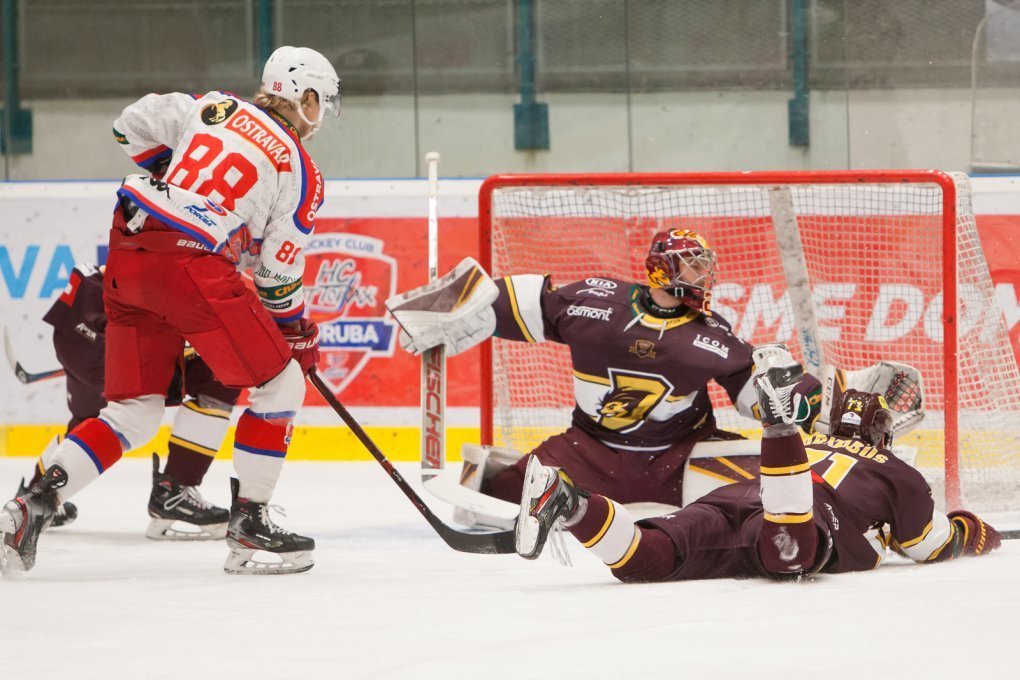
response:
<path id="1" fill-rule="evenodd" d="M 149 495 L 149 528 L 153 540 L 211 540 L 226 535 L 231 513 L 187 486 L 159 472 L 159 456 L 152 455 L 152 493 Z"/>

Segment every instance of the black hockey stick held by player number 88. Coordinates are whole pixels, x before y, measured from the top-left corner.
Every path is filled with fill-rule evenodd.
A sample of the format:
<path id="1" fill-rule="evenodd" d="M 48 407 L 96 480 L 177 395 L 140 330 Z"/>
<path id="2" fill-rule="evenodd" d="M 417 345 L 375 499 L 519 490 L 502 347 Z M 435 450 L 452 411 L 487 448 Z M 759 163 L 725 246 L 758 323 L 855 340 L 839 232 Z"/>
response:
<path id="1" fill-rule="evenodd" d="M 372 455 L 382 469 L 387 471 L 390 478 L 396 482 L 400 490 L 404 492 L 404 495 L 414 504 L 414 507 L 418 509 L 421 516 L 425 518 L 425 521 L 431 525 L 436 533 L 440 535 L 440 538 L 446 541 L 447 545 L 455 551 L 460 551 L 461 553 L 481 553 L 488 555 L 509 555 L 510 553 L 515 553 L 514 547 L 514 532 L 513 531 L 498 531 L 495 533 L 465 533 L 463 531 L 458 531 L 453 527 L 447 526 L 443 521 L 428 509 L 425 502 L 421 500 L 411 485 L 407 483 L 404 477 L 398 472 L 394 467 L 393 463 L 379 451 L 375 442 L 369 438 L 368 434 L 361 428 L 358 421 L 350 414 L 347 408 L 340 403 L 340 400 L 334 396 L 329 388 L 322 382 L 322 378 L 319 377 L 318 373 L 314 370 L 308 373 L 308 379 L 311 381 L 315 389 L 322 396 L 333 410 L 337 412 L 354 435 L 358 437 L 361 444 L 368 450 L 368 453 Z"/>

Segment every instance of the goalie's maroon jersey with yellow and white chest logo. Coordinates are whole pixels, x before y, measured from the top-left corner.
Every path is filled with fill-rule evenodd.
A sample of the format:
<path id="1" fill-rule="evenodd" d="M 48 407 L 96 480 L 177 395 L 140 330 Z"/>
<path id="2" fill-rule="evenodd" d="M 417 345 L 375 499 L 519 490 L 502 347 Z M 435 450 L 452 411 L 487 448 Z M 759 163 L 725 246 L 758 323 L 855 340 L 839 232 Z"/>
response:
<path id="1" fill-rule="evenodd" d="M 573 423 L 614 449 L 664 451 L 714 425 L 707 385 L 715 380 L 754 417 L 752 347 L 717 315 L 648 311 L 648 287 L 588 278 L 554 289 L 547 276 L 497 280 L 497 337 L 562 343 L 570 349 Z"/>

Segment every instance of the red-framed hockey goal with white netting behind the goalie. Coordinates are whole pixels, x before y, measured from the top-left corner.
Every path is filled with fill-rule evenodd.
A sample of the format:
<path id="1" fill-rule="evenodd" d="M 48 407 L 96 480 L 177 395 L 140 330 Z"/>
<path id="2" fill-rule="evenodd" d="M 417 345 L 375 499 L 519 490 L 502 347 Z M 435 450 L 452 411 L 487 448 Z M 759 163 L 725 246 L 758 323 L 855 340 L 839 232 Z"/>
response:
<path id="1" fill-rule="evenodd" d="M 478 209 L 480 259 L 494 277 L 548 273 L 555 284 L 645 281 L 652 236 L 694 228 L 716 251 L 715 313 L 745 339 L 786 343 L 802 358 L 777 246 L 779 224 L 793 223 L 824 362 L 917 367 L 926 416 L 898 443 L 915 449 L 948 507 L 1020 510 L 1020 371 L 965 175 L 498 175 L 482 185 Z M 571 375 L 563 346 L 486 344 L 482 441 L 529 451 L 562 431 Z M 720 426 L 757 436 L 725 393 L 710 391 Z"/>

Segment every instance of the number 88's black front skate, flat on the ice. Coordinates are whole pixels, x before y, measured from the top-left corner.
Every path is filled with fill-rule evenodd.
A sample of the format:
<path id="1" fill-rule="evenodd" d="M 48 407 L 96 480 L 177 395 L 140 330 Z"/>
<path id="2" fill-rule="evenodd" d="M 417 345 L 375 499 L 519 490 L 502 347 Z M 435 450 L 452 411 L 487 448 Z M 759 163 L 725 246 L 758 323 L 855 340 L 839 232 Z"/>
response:
<path id="1" fill-rule="evenodd" d="M 269 519 L 269 509 L 280 512 L 278 506 L 255 503 L 238 498 L 240 482 L 231 478 L 231 522 L 226 529 L 226 556 L 223 571 L 227 574 L 297 574 L 315 564 L 312 552 L 315 539 L 291 533 Z M 273 558 L 270 562 L 256 559 L 257 553 Z"/>

